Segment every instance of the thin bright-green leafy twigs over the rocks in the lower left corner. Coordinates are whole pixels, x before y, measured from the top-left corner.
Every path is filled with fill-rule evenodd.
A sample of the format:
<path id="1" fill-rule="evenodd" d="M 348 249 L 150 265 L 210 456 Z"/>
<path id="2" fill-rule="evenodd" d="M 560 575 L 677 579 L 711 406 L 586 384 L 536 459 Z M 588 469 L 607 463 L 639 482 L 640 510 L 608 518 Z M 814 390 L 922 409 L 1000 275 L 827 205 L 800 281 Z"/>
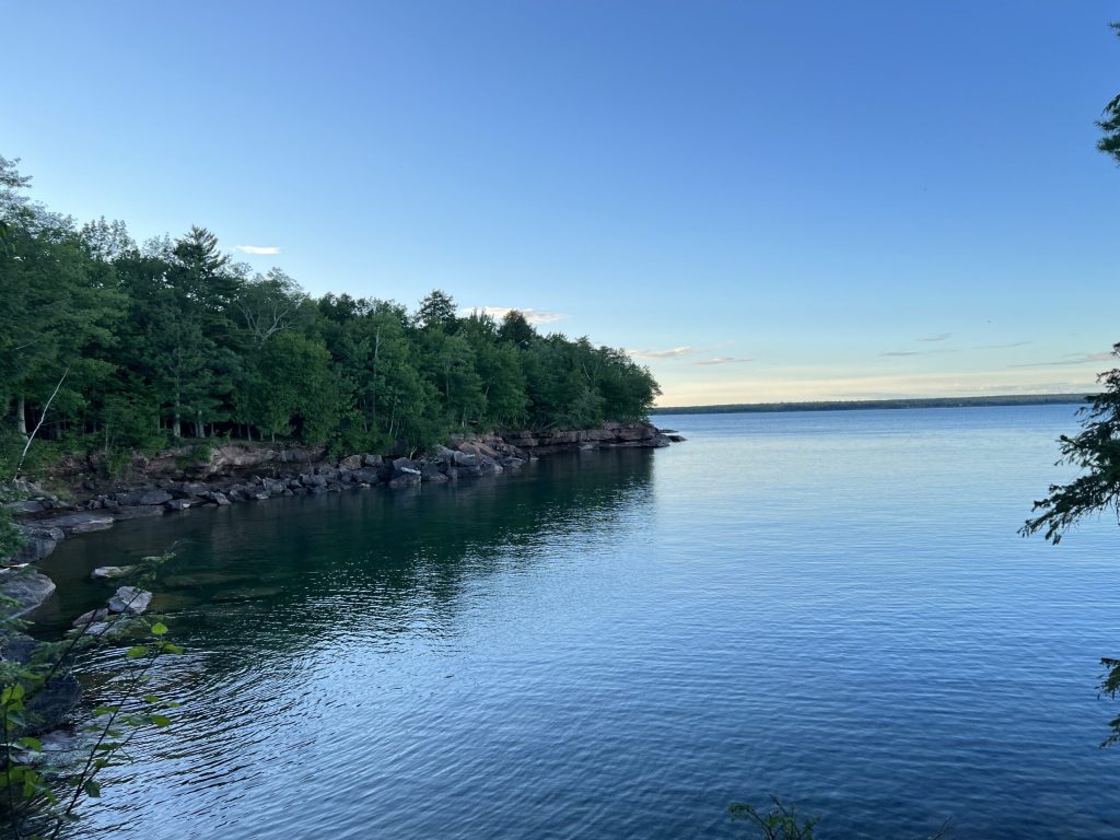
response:
<path id="1" fill-rule="evenodd" d="M 150 579 L 169 556 L 144 558 L 139 577 Z M 39 644 L 26 662 L 6 660 L 0 672 L 0 819 L 17 840 L 58 838 L 64 828 L 78 820 L 78 806 L 86 799 L 101 795 L 99 774 L 106 767 L 129 760 L 127 747 L 147 728 L 162 729 L 171 724 L 167 711 L 177 706 L 160 699 L 148 688 L 151 669 L 167 654 L 183 648 L 168 642 L 168 628 L 137 615 L 138 600 L 148 594 L 137 587 L 130 591 L 120 613 L 97 616 L 81 623 L 63 643 Z M 94 620 L 94 618 L 104 620 Z M 7 640 L 18 637 L 26 623 L 8 618 L 2 624 Z M 84 727 L 86 744 L 68 758 L 52 755 L 56 750 L 34 737 L 44 728 L 36 701 L 54 685 L 72 679 L 69 665 L 75 653 L 100 641 L 131 637 L 134 644 L 124 651 L 123 671 L 112 683 L 114 700 L 92 711 Z M 27 637 L 24 637 L 25 640 Z M 58 750 L 67 752 L 67 750 Z"/>

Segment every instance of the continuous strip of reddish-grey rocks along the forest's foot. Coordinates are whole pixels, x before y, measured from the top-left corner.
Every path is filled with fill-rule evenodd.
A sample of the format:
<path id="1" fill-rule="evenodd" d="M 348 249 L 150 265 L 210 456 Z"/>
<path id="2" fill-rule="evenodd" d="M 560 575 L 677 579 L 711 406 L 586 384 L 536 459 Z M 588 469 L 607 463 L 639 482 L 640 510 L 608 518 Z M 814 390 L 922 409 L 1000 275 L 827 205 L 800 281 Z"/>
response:
<path id="1" fill-rule="evenodd" d="M 180 447 L 138 458 L 130 467 L 132 480 L 127 482 L 97 479 L 91 465 L 72 463 L 58 476 L 68 489 L 64 495 L 72 498 L 35 484 L 24 483 L 18 488 L 24 498 L 8 507 L 27 542 L 6 562 L 34 563 L 67 536 L 104 531 L 122 520 L 282 496 L 456 482 L 519 469 L 540 456 L 558 452 L 661 448 L 681 440 L 651 423 L 604 423 L 598 429 L 573 431 L 456 436 L 449 446 L 412 458 L 355 454 L 329 459 L 324 448 L 224 444 L 204 452 L 197 447 Z"/>

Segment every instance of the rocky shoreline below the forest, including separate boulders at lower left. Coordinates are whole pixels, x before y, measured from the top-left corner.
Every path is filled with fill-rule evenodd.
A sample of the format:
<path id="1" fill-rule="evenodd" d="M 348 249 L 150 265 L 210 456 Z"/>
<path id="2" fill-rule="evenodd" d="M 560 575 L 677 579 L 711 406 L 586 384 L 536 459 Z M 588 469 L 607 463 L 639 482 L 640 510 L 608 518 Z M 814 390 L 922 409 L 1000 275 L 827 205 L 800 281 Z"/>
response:
<path id="1" fill-rule="evenodd" d="M 9 620 L 32 612 L 55 591 L 54 581 L 35 563 L 49 556 L 62 540 L 104 531 L 122 520 L 161 516 L 204 505 L 469 480 L 519 469 L 540 456 L 661 448 L 681 440 L 675 432 L 650 423 L 604 423 L 598 429 L 577 431 L 457 436 L 449 446 L 412 458 L 356 454 L 330 459 L 325 449 L 224 444 L 204 451 L 181 447 L 153 458 L 137 458 L 129 470 L 132 479 L 127 482 L 99 479 L 94 465 L 71 463 L 54 476 L 65 488 L 59 488 L 62 495 L 29 482 L 18 482 L 13 488 L 20 501 L 7 507 L 27 540 L 15 556 L 0 558 L 0 595 L 9 599 L 4 610 Z M 130 571 L 105 567 L 95 570 L 94 578 L 110 580 Z M 150 598 L 150 592 L 121 587 L 104 607 L 75 619 L 74 632 L 108 636 L 120 624 L 114 616 L 128 618 L 143 613 Z M 25 664 L 30 661 L 37 647 L 30 636 L 11 627 L 0 636 L 0 659 Z M 29 731 L 60 726 L 80 697 L 77 681 L 68 671 L 60 672 L 36 700 L 37 722 Z"/>

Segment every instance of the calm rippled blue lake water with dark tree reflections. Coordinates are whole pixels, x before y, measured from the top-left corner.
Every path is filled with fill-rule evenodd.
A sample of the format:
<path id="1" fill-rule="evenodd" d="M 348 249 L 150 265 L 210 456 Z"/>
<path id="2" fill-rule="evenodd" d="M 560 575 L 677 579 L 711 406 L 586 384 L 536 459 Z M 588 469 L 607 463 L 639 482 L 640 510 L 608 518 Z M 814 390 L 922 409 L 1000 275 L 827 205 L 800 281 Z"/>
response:
<path id="1" fill-rule="evenodd" d="M 824 838 L 1117 837 L 1120 531 L 1016 534 L 1073 411 L 661 417 L 689 441 L 68 541 L 48 624 L 174 542 L 188 648 L 84 831 L 730 838 L 774 792 Z"/>

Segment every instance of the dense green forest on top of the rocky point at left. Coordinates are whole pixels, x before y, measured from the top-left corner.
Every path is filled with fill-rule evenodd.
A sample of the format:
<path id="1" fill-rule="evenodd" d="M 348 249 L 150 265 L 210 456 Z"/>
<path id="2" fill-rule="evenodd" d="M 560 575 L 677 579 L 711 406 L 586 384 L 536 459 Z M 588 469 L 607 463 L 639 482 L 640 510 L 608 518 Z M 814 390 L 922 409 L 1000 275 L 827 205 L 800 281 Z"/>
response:
<path id="1" fill-rule="evenodd" d="M 315 298 L 193 226 L 138 244 L 28 195 L 0 157 L 0 468 L 185 439 L 419 450 L 452 431 L 644 419 L 660 394 L 625 352 L 542 335 L 517 311 L 464 314 L 441 290 Z M 26 470 L 25 470 L 26 472 Z"/>

